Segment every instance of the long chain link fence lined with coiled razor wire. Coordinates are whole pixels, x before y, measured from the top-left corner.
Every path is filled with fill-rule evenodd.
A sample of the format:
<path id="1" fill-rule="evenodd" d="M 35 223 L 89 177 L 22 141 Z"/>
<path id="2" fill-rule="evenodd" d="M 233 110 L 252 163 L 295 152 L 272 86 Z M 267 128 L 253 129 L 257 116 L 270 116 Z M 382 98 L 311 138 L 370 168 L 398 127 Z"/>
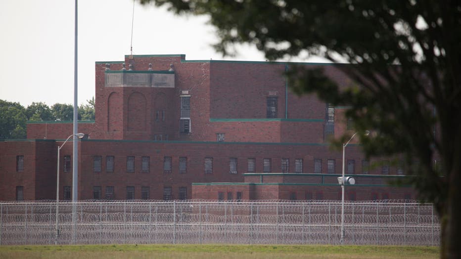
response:
<path id="1" fill-rule="evenodd" d="M 431 204 L 346 202 L 345 244 L 440 242 Z M 0 245 L 339 244 L 341 202 L 0 203 Z"/>

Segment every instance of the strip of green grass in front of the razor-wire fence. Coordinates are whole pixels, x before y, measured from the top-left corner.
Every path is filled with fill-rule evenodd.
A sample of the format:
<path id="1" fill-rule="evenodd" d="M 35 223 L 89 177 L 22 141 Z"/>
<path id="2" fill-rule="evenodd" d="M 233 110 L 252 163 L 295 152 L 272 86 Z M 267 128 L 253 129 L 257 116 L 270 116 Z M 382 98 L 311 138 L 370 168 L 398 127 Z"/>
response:
<path id="1" fill-rule="evenodd" d="M 429 259 L 433 246 L 331 245 L 66 245 L 0 246 L 0 258 L 175 258 L 175 259 Z"/>

